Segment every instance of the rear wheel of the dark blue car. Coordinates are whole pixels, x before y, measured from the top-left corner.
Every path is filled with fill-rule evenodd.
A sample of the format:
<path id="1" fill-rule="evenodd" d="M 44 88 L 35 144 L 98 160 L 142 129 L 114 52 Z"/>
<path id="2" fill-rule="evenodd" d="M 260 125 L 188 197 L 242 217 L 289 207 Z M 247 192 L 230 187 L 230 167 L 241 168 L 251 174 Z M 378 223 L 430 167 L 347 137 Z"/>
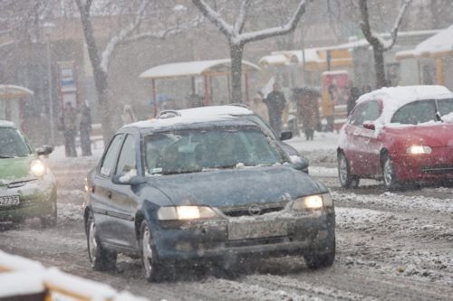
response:
<path id="1" fill-rule="evenodd" d="M 92 212 L 89 213 L 87 223 L 87 244 L 88 244 L 88 256 L 92 263 L 94 270 L 110 270 L 116 268 L 116 252 L 104 249 L 99 241 L 98 234 L 96 232 L 96 223 L 92 216 Z"/>

